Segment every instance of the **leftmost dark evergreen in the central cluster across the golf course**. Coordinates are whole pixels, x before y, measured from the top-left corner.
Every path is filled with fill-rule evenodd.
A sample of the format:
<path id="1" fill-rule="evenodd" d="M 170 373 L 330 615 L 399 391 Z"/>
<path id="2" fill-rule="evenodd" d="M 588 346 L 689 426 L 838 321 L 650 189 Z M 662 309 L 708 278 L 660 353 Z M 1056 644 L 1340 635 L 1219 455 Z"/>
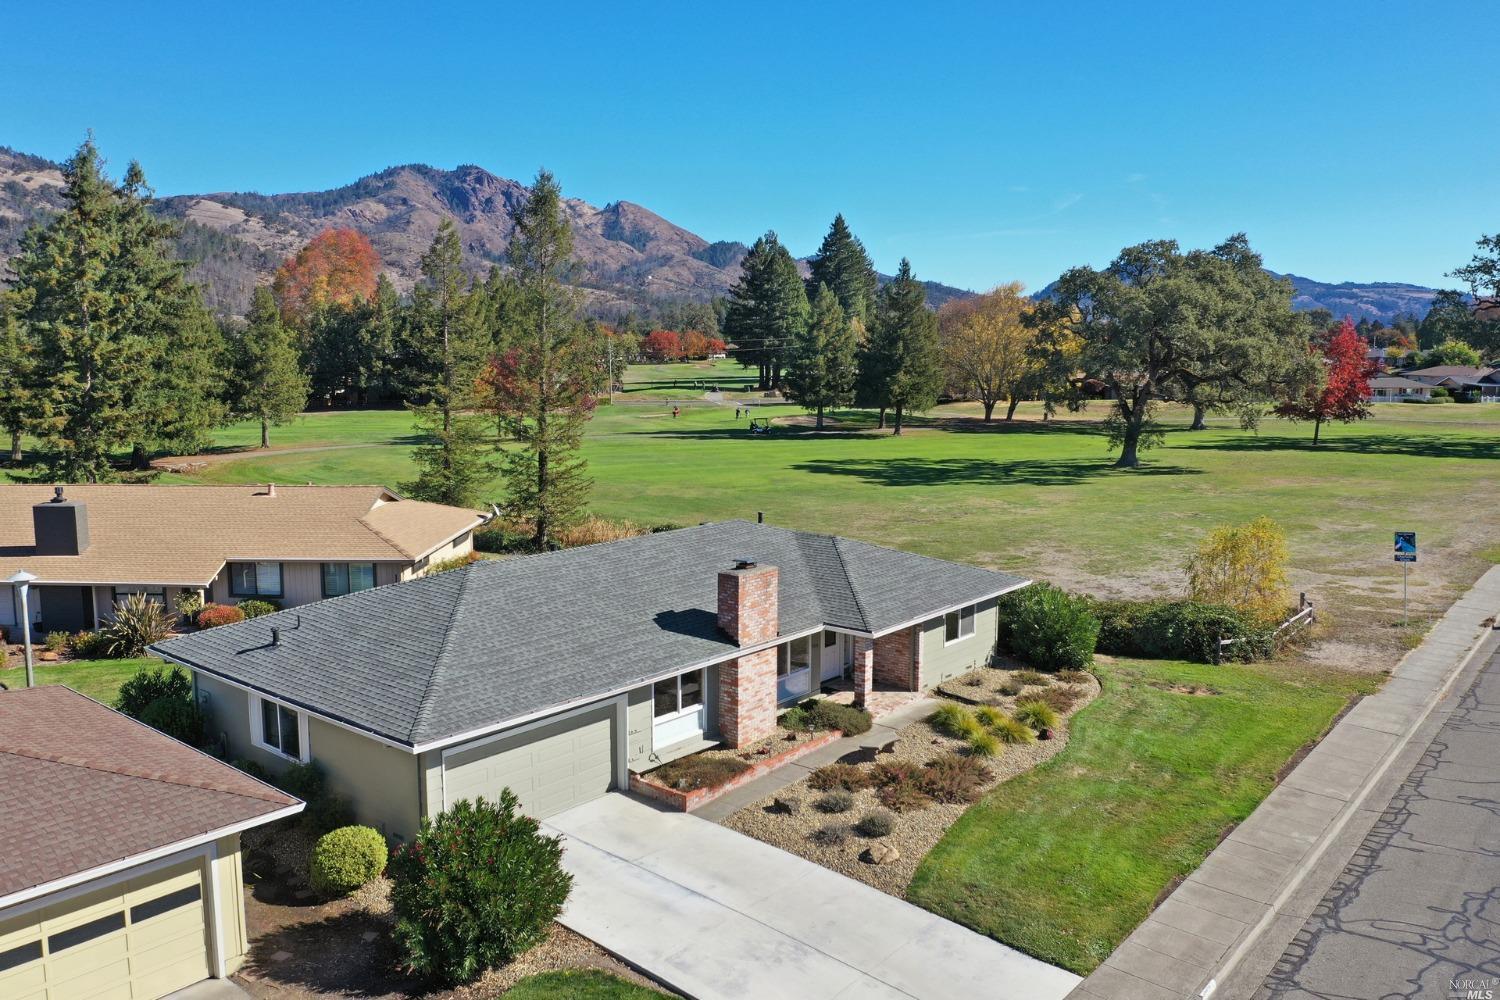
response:
<path id="1" fill-rule="evenodd" d="M 724 339 L 734 357 L 760 372 L 760 388 L 780 388 L 792 337 L 807 322 L 807 291 L 796 261 L 774 232 L 754 241 L 729 291 Z"/>

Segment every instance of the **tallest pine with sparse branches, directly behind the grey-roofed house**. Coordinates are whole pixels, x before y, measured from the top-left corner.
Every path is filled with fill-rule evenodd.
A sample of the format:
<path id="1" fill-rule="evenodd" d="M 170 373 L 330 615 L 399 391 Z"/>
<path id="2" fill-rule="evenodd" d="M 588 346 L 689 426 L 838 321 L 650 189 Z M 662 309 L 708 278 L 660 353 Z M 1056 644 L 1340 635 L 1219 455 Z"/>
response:
<path id="1" fill-rule="evenodd" d="M 502 309 L 508 349 L 486 375 L 486 408 L 519 444 L 501 459 L 504 511 L 530 522 L 532 544 L 544 550 L 560 528 L 584 516 L 592 481 L 578 451 L 604 372 L 597 337 L 579 316 L 578 292 L 562 283 L 573 232 L 552 174 L 537 172 L 514 223 L 513 288 Z"/>

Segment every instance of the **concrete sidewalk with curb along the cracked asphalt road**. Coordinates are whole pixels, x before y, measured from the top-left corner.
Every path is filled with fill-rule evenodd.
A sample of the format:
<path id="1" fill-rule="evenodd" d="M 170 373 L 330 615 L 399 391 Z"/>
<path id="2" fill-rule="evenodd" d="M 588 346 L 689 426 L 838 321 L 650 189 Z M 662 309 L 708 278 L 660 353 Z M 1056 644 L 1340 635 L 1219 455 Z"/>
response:
<path id="1" fill-rule="evenodd" d="M 1482 622 L 1496 613 L 1500 567 L 1443 615 L 1386 685 L 1340 720 L 1070 999 L 1209 997 L 1269 928 L 1294 934 L 1306 915 L 1299 919 L 1288 901 L 1308 895 L 1299 892 L 1308 888 L 1308 873 L 1335 841 L 1347 843 L 1346 828 L 1356 816 L 1370 816 L 1371 790 L 1388 778 L 1390 765 L 1473 660 L 1490 636 Z M 1314 898 L 1328 886 L 1316 888 Z"/>

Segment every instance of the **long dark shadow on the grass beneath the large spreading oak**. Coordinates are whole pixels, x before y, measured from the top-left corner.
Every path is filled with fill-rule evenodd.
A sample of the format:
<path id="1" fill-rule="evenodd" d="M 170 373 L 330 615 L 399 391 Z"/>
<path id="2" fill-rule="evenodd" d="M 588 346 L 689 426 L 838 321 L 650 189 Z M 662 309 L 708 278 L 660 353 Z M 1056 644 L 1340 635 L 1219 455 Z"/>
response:
<path id="1" fill-rule="evenodd" d="M 801 462 L 792 466 L 818 475 L 850 475 L 874 486 L 1072 486 L 1101 475 L 1203 475 L 1203 469 L 1180 465 L 1143 465 L 1116 469 L 1113 462 L 1060 462 L 1016 459 L 843 459 Z"/>

